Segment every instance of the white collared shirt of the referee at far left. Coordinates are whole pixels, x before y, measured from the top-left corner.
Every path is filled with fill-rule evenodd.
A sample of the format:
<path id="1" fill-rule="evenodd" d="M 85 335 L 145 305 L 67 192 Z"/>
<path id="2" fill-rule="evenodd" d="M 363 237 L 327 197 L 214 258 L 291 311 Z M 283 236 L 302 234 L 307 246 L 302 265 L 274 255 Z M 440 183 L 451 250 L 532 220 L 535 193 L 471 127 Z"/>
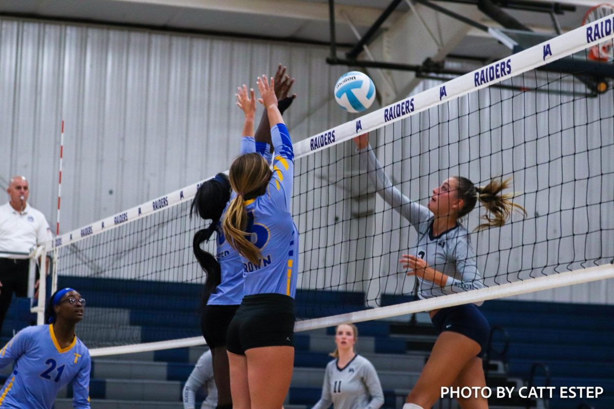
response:
<path id="1" fill-rule="evenodd" d="M 26 208 L 17 212 L 9 202 L 0 206 L 0 257 L 26 259 L 33 247 L 52 240 L 51 229 L 45 216 L 26 203 Z"/>

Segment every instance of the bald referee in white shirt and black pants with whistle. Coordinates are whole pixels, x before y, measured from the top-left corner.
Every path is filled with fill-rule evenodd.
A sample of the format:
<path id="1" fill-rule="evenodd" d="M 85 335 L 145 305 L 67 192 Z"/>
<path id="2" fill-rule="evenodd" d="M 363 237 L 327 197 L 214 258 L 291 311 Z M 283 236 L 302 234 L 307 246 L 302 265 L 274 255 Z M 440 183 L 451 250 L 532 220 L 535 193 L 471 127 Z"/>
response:
<path id="1" fill-rule="evenodd" d="M 10 201 L 0 206 L 0 331 L 13 292 L 28 295 L 28 254 L 52 239 L 45 216 L 28 205 L 28 180 L 15 176 L 10 180 Z"/>

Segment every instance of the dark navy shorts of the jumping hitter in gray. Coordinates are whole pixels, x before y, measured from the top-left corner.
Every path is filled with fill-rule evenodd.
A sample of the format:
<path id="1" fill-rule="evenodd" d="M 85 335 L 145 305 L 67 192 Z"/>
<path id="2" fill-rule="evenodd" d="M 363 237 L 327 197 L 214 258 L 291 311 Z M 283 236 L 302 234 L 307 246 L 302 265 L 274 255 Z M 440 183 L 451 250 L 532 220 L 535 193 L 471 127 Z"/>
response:
<path id="1" fill-rule="evenodd" d="M 478 357 L 482 357 L 486 352 L 491 326 L 475 304 L 441 308 L 437 314 L 433 315 L 431 321 L 433 321 L 437 335 L 444 331 L 458 332 L 480 344 L 481 350 Z"/>

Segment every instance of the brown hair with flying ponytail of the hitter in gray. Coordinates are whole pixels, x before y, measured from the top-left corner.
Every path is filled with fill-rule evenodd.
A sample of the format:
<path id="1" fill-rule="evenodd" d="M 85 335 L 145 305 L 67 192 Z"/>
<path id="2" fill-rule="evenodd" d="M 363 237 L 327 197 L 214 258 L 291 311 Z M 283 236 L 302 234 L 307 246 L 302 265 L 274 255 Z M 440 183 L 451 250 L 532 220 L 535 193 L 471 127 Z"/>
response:
<path id="1" fill-rule="evenodd" d="M 464 202 L 463 207 L 459 210 L 459 218 L 468 215 L 475 208 L 478 200 L 490 213 L 481 216 L 486 220 L 486 223 L 481 223 L 476 230 L 503 226 L 505 221 L 510 218 L 513 210 L 527 215 L 524 207 L 511 200 L 514 197 L 513 193 L 502 193 L 509 187 L 511 178 L 506 180 L 491 179 L 488 185 L 483 187 L 475 186 L 471 180 L 462 176 L 455 178 L 459 185 L 457 196 Z"/>

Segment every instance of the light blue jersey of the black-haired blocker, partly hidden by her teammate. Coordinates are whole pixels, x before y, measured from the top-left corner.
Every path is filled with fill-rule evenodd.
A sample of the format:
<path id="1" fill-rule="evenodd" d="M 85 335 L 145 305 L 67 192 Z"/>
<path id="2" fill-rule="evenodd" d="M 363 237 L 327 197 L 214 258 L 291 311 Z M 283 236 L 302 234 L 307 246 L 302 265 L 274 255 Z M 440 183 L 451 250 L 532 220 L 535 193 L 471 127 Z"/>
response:
<path id="1" fill-rule="evenodd" d="M 258 152 L 267 162 L 271 162 L 270 145 L 266 142 L 256 142 L 251 136 L 241 139 L 241 155 Z M 231 200 L 235 197 L 231 196 Z M 228 204 L 226 205 L 228 208 Z M 222 220 L 226 209 L 222 213 Z M 239 253 L 228 243 L 222 231 L 222 222 L 216 227 L 216 259 L 222 270 L 222 280 L 216 290 L 211 293 L 207 305 L 239 305 L 243 300 L 243 262 Z"/>

